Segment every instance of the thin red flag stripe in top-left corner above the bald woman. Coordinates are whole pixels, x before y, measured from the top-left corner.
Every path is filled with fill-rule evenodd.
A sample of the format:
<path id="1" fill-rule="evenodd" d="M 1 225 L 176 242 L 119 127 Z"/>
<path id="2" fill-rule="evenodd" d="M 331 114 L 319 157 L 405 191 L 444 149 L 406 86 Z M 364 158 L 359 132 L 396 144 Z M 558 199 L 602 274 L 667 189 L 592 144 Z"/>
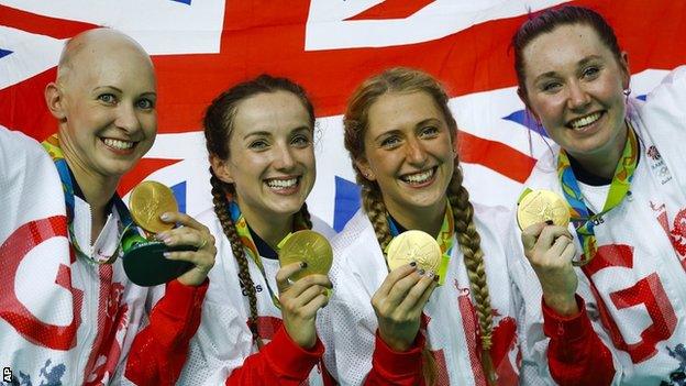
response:
<path id="1" fill-rule="evenodd" d="M 68 38 L 98 26 L 79 21 L 44 16 L 7 5 L 0 5 L 0 25 L 55 38 Z"/>

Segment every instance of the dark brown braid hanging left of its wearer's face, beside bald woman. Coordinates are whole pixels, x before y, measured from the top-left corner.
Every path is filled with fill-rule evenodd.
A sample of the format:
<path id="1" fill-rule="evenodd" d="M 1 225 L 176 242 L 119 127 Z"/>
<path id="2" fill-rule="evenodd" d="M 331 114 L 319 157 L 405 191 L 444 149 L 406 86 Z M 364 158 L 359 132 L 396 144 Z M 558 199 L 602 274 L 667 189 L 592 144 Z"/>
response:
<path id="1" fill-rule="evenodd" d="M 212 184 L 212 201 L 214 202 L 214 213 L 219 218 L 221 222 L 222 229 L 226 239 L 231 243 L 231 251 L 233 252 L 233 256 L 239 263 L 239 280 L 243 287 L 243 289 L 247 293 L 247 299 L 250 304 L 250 319 L 248 327 L 253 334 L 253 340 L 257 342 L 257 346 L 262 346 L 262 339 L 259 338 L 259 333 L 257 331 L 257 295 L 255 291 L 255 285 L 253 284 L 253 278 L 250 276 L 250 269 L 247 266 L 247 258 L 245 257 L 245 251 L 243 250 L 243 243 L 241 242 L 241 238 L 235 230 L 235 225 L 233 224 L 233 220 L 231 220 L 231 214 L 229 211 L 229 200 L 226 199 L 226 192 L 232 192 L 233 186 L 229 184 L 222 183 L 217 176 L 212 168 L 210 168 L 210 174 L 212 177 L 210 178 L 210 184 Z"/>

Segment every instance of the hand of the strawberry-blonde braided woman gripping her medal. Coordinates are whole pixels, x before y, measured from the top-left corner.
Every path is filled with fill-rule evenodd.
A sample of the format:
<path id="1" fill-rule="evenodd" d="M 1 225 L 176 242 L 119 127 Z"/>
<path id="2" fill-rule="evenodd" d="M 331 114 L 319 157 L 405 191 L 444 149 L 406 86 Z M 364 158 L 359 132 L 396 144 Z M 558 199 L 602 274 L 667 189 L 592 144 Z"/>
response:
<path id="1" fill-rule="evenodd" d="M 412 264 L 391 271 L 372 297 L 381 340 L 394 351 L 407 351 L 419 332 L 422 310 L 438 276 L 420 274 Z"/>

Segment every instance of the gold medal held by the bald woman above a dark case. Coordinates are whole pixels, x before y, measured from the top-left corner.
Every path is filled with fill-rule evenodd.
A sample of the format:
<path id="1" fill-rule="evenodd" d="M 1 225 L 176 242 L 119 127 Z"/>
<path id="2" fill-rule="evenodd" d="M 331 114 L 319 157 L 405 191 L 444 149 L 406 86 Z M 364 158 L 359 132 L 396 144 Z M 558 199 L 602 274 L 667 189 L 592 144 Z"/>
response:
<path id="1" fill-rule="evenodd" d="M 157 181 L 143 181 L 131 191 L 129 210 L 136 224 L 151 233 L 174 228 L 174 223 L 159 220 L 165 212 L 178 212 L 178 205 L 172 189 Z"/>

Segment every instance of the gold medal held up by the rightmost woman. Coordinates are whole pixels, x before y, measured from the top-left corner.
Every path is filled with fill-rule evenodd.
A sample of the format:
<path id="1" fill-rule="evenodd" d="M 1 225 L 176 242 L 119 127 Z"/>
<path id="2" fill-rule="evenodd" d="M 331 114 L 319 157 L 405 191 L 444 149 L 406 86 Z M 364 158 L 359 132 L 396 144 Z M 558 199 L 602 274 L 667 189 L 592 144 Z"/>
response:
<path id="1" fill-rule="evenodd" d="M 569 207 L 560 195 L 550 190 L 532 190 L 517 206 L 517 223 L 524 230 L 539 222 L 553 221 L 557 227 L 569 223 Z"/>

